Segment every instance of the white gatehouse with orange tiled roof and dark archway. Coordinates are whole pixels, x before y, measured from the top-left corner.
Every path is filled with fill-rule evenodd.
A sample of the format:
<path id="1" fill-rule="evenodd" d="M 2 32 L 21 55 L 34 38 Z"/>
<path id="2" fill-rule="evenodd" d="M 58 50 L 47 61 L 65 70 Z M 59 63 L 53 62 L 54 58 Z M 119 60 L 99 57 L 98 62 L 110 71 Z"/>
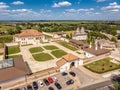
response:
<path id="1" fill-rule="evenodd" d="M 83 60 L 81 60 L 79 57 L 69 53 L 69 54 L 63 56 L 59 61 L 57 61 L 56 64 L 57 64 L 60 72 L 63 72 L 65 70 L 69 70 L 73 66 L 78 67 L 79 65 L 83 65 Z"/>

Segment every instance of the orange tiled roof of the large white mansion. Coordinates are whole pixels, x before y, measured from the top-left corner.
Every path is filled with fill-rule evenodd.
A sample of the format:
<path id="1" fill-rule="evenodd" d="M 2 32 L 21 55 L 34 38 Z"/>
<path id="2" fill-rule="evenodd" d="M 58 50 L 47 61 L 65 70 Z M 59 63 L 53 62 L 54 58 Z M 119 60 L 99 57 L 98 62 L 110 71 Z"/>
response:
<path id="1" fill-rule="evenodd" d="M 26 29 L 19 34 L 15 34 L 16 37 L 40 36 L 40 35 L 43 35 L 43 34 L 33 29 Z"/>

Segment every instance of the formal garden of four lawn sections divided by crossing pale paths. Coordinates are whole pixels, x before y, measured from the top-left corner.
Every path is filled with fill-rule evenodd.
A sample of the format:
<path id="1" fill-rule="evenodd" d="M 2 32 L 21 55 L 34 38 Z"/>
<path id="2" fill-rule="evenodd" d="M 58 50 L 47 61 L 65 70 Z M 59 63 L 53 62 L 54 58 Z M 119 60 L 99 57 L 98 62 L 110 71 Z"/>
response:
<path id="1" fill-rule="evenodd" d="M 36 61 L 53 60 L 55 59 L 55 57 L 60 58 L 63 55 L 67 54 L 65 51 L 59 49 L 57 46 L 54 46 L 54 45 L 33 47 L 33 48 L 30 48 L 29 51 Z"/>

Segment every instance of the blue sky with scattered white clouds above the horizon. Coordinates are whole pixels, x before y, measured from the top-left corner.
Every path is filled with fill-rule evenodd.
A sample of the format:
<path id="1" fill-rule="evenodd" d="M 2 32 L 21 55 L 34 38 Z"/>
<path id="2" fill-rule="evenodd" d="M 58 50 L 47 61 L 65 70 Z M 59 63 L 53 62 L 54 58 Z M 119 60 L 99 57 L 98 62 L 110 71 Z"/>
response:
<path id="1" fill-rule="evenodd" d="M 0 0 L 0 20 L 120 20 L 120 0 Z"/>

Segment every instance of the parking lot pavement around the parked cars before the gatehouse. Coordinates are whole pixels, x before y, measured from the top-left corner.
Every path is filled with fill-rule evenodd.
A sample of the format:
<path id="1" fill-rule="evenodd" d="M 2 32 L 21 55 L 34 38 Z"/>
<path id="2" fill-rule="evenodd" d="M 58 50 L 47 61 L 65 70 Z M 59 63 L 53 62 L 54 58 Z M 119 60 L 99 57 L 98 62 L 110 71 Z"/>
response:
<path id="1" fill-rule="evenodd" d="M 43 86 L 40 86 L 40 84 L 38 83 L 38 81 L 35 81 L 38 84 L 38 89 L 34 89 L 33 83 L 27 83 L 26 85 L 17 87 L 17 88 L 15 88 L 13 90 L 50 90 L 49 87 L 54 88 L 54 90 L 58 90 L 58 88 L 54 85 L 55 82 L 58 82 L 61 85 L 61 87 L 62 87 L 61 90 L 68 90 L 68 89 L 76 88 L 77 85 L 78 85 L 78 83 L 79 83 L 79 81 L 76 80 L 77 77 L 71 76 L 69 74 L 69 72 L 68 72 L 67 75 L 62 75 L 61 73 L 59 73 L 59 74 L 56 74 L 56 75 L 50 76 L 50 77 L 53 79 L 53 83 L 50 83 L 50 85 L 48 85 L 48 86 L 43 81 L 43 79 L 47 79 L 48 80 L 48 77 L 46 77 L 46 78 L 42 78 L 42 79 L 38 80 L 38 81 L 42 81 L 43 82 Z M 70 80 L 70 79 L 72 79 L 74 81 L 74 83 L 70 84 L 70 85 L 67 85 L 66 82 L 68 80 Z M 22 89 L 23 87 L 27 88 L 28 85 L 31 85 L 32 89 Z"/>

